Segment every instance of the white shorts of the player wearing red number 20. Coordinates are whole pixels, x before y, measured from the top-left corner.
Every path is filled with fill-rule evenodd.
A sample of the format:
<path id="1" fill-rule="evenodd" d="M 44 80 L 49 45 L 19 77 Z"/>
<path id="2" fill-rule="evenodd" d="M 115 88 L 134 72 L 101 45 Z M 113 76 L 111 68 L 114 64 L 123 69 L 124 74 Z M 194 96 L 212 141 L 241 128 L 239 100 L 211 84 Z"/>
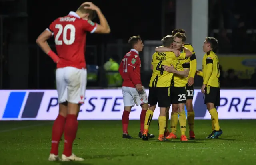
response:
<path id="1" fill-rule="evenodd" d="M 64 67 L 56 70 L 56 86 L 59 103 L 83 104 L 87 83 L 86 69 Z"/>

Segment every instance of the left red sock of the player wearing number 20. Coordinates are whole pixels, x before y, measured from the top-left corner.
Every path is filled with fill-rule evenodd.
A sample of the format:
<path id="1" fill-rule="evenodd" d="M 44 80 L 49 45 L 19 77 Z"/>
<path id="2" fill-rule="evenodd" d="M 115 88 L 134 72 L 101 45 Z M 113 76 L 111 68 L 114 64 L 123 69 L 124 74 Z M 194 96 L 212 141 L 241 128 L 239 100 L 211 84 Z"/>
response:
<path id="1" fill-rule="evenodd" d="M 54 155 L 58 155 L 58 147 L 64 132 L 65 121 L 66 118 L 64 116 L 58 115 L 52 126 L 52 149 L 50 153 Z"/>

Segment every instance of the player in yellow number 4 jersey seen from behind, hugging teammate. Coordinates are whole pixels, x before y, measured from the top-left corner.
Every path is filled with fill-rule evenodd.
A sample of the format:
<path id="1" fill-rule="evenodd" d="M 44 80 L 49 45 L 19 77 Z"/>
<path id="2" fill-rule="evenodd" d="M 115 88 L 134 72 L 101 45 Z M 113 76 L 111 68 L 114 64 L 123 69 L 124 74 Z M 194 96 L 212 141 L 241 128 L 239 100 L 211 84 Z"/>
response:
<path id="1" fill-rule="evenodd" d="M 172 48 L 173 36 L 167 35 L 162 39 L 164 47 Z M 152 56 L 152 68 L 153 73 L 149 84 L 149 98 L 148 103 L 150 104 L 149 109 L 146 112 L 144 132 L 142 135 L 143 140 L 148 140 L 148 129 L 150 122 L 153 118 L 153 112 L 156 109 L 156 104 L 160 107 L 160 114 L 158 118 L 159 125 L 159 141 L 167 141 L 164 137 L 165 127 L 166 127 L 166 111 L 170 107 L 170 82 L 172 80 L 173 73 L 168 73 L 164 71 L 164 65 L 174 65 L 176 67 L 179 59 L 185 59 L 191 56 L 192 53 L 181 52 L 179 57 L 176 57 L 173 52 L 162 52 L 154 53 Z"/>

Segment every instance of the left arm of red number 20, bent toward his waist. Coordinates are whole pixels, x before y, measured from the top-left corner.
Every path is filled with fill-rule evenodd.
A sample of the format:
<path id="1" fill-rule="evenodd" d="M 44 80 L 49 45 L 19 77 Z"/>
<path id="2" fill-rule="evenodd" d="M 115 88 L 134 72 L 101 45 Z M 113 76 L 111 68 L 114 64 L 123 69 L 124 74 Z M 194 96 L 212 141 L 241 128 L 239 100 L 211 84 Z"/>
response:
<path id="1" fill-rule="evenodd" d="M 59 61 L 58 55 L 56 55 L 56 53 L 54 53 L 52 51 L 52 49 L 50 48 L 50 46 L 48 45 L 48 42 L 47 42 L 47 40 L 50 37 L 52 37 L 52 35 L 53 35 L 53 32 L 50 30 L 50 28 L 46 29 L 44 32 L 42 32 L 38 36 L 38 38 L 36 39 L 36 43 L 39 47 L 41 47 L 41 49 L 44 51 L 44 53 L 48 54 L 55 63 L 58 63 L 58 61 Z"/>

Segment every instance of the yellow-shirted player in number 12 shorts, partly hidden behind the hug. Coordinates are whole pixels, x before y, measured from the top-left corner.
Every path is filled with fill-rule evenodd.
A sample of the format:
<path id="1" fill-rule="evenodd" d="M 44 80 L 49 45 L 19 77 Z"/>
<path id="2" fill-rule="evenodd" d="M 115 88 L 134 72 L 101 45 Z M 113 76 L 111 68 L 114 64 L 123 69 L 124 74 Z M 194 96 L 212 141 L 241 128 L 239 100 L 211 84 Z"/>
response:
<path id="1" fill-rule="evenodd" d="M 174 29 L 172 31 L 172 35 L 174 36 L 176 33 L 183 33 L 186 34 L 186 31 L 184 29 Z M 194 134 L 194 119 L 195 119 L 195 113 L 193 110 L 193 96 L 194 96 L 194 76 L 196 73 L 196 54 L 194 51 L 194 48 L 192 47 L 192 45 L 185 43 L 184 47 L 186 47 L 187 49 L 189 49 L 193 55 L 189 58 L 190 60 L 190 70 L 189 70 L 189 75 L 188 77 L 186 77 L 185 79 L 187 80 L 187 84 L 186 84 L 186 109 L 187 109 L 187 115 L 188 115 L 188 125 L 189 125 L 189 138 L 190 139 L 195 139 L 195 134 Z M 156 51 L 158 52 L 162 52 L 162 51 L 172 51 L 172 50 L 167 50 L 164 49 L 163 47 L 157 47 Z M 173 121 L 178 121 L 178 115 L 177 114 L 173 114 L 171 115 L 173 119 Z M 167 120 L 169 118 L 169 114 L 167 114 Z M 168 135 L 168 132 L 166 132 L 166 135 Z"/>

